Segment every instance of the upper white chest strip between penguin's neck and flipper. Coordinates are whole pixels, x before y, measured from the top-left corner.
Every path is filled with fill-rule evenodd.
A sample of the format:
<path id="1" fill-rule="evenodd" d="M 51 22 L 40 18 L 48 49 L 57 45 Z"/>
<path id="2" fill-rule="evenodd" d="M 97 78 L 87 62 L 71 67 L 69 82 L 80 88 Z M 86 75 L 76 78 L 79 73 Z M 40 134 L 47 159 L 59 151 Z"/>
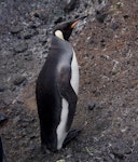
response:
<path id="1" fill-rule="evenodd" d="M 75 53 L 73 51 L 73 57 L 71 63 L 71 86 L 75 94 L 78 95 L 79 91 L 79 66 L 75 57 Z"/>

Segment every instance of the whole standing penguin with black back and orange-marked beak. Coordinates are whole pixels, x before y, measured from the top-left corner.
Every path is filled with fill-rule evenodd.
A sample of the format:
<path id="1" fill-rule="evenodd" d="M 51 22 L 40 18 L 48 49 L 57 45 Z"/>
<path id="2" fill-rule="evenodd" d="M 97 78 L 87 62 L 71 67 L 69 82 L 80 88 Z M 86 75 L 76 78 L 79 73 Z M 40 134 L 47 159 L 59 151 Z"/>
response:
<path id="1" fill-rule="evenodd" d="M 39 73 L 36 98 L 43 150 L 57 151 L 80 131 L 70 131 L 79 91 L 79 66 L 68 42 L 75 26 L 85 16 L 58 24 L 46 60 Z"/>

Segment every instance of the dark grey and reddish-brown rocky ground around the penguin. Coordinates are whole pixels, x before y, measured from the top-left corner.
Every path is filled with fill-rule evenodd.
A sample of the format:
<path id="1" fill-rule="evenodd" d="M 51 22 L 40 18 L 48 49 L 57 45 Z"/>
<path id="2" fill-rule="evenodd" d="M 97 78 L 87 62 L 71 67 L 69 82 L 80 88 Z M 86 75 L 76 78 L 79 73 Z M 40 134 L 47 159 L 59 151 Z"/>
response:
<path id="1" fill-rule="evenodd" d="M 66 8 L 65 8 L 66 6 Z M 80 136 L 57 153 L 40 150 L 38 73 L 56 23 L 88 15 L 72 33 Z M 138 1 L 0 1 L 0 134 L 9 162 L 138 161 Z"/>

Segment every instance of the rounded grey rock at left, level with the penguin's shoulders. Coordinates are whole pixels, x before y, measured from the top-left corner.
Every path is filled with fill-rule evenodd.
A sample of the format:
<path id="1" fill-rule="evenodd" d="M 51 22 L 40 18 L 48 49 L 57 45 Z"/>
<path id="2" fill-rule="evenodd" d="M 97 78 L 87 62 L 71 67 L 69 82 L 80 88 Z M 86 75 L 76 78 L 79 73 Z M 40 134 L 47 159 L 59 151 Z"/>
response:
<path id="1" fill-rule="evenodd" d="M 14 46 L 14 51 L 16 53 L 20 53 L 20 52 L 25 52 L 27 51 L 28 49 L 28 44 L 26 42 L 20 42 L 20 43 L 17 43 L 15 46 Z"/>

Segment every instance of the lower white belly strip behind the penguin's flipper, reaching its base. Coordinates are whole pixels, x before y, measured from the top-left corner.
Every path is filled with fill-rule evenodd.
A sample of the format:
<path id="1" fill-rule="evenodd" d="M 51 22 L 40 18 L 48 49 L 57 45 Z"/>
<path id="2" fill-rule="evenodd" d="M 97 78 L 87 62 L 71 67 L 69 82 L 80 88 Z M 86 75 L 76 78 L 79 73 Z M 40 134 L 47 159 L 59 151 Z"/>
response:
<path id="1" fill-rule="evenodd" d="M 61 116 L 60 116 L 60 123 L 57 126 L 57 149 L 59 150 L 63 147 L 63 143 L 68 134 L 66 132 L 66 124 L 67 124 L 67 119 L 68 119 L 68 102 L 63 98 L 63 109 L 61 109 Z"/>

